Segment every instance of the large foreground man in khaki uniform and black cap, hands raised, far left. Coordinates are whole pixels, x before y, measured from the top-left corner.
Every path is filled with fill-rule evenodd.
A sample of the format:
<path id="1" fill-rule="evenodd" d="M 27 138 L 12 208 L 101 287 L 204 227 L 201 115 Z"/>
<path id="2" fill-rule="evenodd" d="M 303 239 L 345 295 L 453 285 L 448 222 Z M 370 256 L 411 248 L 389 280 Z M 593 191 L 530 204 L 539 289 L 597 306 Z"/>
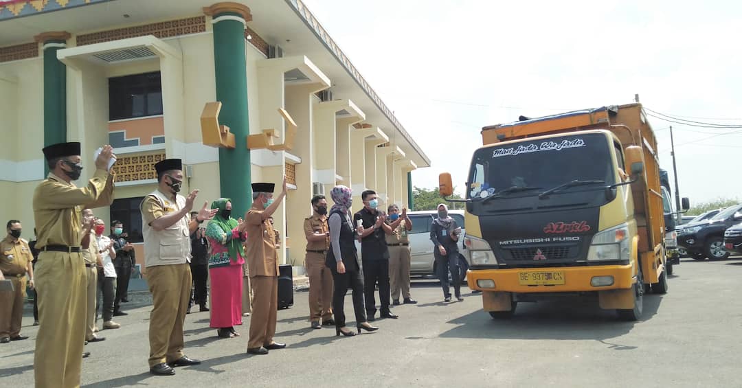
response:
<path id="1" fill-rule="evenodd" d="M 80 143 L 44 148 L 49 176 L 33 192 L 36 220 L 36 291 L 39 334 L 33 373 L 36 387 L 79 387 L 87 317 L 87 277 L 80 245 L 82 208 L 111 205 L 114 198 L 114 148 L 105 145 L 95 160 L 96 171 L 85 187 L 76 187 L 82 172 Z"/>

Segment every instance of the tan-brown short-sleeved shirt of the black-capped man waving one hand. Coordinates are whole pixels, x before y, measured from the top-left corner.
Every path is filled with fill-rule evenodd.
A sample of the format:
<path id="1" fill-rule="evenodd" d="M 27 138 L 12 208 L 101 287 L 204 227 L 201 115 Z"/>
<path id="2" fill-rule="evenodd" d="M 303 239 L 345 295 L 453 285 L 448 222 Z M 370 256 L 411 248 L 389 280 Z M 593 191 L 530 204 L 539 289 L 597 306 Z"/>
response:
<path id="1" fill-rule="evenodd" d="M 245 215 L 247 240 L 245 255 L 250 277 L 278 276 L 275 232 L 262 210 L 250 209 Z"/>

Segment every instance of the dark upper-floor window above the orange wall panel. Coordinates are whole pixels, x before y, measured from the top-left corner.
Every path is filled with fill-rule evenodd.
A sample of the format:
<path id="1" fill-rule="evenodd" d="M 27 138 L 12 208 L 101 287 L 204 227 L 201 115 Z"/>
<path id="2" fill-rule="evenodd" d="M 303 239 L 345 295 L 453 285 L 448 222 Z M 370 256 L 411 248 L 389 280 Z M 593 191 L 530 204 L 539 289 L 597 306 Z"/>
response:
<path id="1" fill-rule="evenodd" d="M 160 72 L 108 79 L 108 119 L 133 119 L 162 114 Z"/>

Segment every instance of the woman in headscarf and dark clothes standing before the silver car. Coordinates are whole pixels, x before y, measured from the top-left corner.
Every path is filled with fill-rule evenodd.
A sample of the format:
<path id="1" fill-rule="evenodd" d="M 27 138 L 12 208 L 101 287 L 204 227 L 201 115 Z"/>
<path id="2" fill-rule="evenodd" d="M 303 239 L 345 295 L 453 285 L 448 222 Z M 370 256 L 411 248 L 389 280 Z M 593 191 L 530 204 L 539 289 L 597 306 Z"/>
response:
<path id="1" fill-rule="evenodd" d="M 459 235 L 462 228 L 456 224 L 456 220 L 448 215 L 448 206 L 441 203 L 438 205 L 438 218 L 433 220 L 430 226 L 430 240 L 436 245 L 433 254 L 436 257 L 436 269 L 438 278 L 443 288 L 444 302 L 451 301 L 450 286 L 448 284 L 448 272 L 451 273 L 451 283 L 456 300 L 463 302 L 461 293 L 461 280 L 459 279 Z"/>

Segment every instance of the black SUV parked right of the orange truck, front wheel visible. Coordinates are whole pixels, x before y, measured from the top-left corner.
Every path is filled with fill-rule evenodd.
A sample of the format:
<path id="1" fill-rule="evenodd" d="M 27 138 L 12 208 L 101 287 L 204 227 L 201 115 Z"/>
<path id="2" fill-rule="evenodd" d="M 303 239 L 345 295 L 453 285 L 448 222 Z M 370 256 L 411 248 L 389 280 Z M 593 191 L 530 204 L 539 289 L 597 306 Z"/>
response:
<path id="1" fill-rule="evenodd" d="M 729 257 L 724 249 L 724 231 L 742 221 L 742 204 L 729 206 L 709 220 L 689 223 L 677 228 L 677 245 L 695 260 L 708 257 L 723 260 Z"/>

